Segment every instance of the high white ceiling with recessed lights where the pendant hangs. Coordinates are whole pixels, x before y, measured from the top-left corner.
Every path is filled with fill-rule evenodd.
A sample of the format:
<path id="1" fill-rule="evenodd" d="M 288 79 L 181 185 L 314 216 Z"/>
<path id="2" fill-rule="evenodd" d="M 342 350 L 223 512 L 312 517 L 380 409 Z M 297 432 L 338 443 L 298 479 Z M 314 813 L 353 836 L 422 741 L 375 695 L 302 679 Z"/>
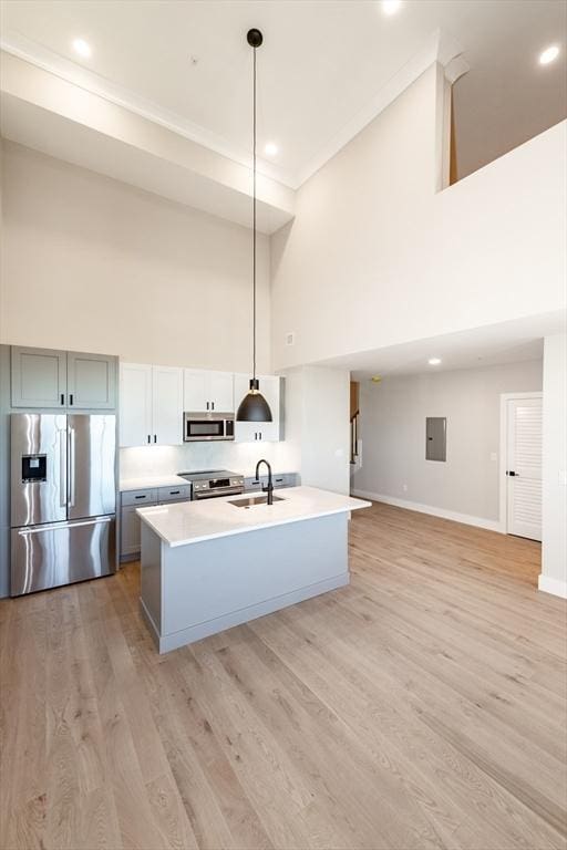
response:
<path id="1" fill-rule="evenodd" d="M 455 85 L 462 173 L 565 117 L 567 4 L 563 0 L 4 0 L 2 44 L 83 87 L 120 91 L 195 141 L 247 158 L 249 27 L 259 27 L 259 142 L 280 153 L 265 172 L 297 186 L 343 144 L 346 128 L 439 30 L 471 71 Z M 92 46 L 80 59 L 71 46 Z M 549 43 L 551 66 L 537 63 Z M 192 61 L 196 58 L 196 63 Z M 360 126 L 358 126 L 360 128 Z M 466 133 L 465 133 L 466 131 Z"/>

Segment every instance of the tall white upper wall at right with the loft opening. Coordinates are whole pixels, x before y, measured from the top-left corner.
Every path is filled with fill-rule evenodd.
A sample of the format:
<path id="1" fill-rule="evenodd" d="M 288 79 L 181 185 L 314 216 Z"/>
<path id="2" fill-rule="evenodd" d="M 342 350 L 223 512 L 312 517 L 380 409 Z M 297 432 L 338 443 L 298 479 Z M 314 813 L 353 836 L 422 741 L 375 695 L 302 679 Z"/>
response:
<path id="1" fill-rule="evenodd" d="M 442 94 L 432 66 L 299 189 L 271 238 L 276 369 L 566 305 L 567 122 L 435 193 Z"/>

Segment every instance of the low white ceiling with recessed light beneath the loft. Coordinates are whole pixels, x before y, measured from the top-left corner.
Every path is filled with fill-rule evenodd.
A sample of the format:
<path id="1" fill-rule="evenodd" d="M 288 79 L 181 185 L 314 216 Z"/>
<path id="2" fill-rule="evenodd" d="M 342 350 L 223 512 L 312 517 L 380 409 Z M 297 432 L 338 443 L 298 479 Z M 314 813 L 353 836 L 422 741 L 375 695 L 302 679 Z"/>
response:
<path id="1" fill-rule="evenodd" d="M 355 380 L 365 380 L 373 375 L 414 375 L 518 363 L 542 357 L 543 338 L 565 333 L 566 326 L 565 312 L 543 313 L 434 339 L 362 351 L 319 365 L 349 369 Z M 441 359 L 441 363 L 431 366 L 427 363 L 431 357 Z"/>

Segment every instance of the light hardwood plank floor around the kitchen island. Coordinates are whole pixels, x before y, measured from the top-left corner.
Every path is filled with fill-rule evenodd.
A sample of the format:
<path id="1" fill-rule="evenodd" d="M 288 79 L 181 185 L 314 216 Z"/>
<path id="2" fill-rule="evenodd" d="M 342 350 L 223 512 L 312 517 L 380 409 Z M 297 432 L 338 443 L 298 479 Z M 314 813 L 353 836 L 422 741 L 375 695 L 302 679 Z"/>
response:
<path id="1" fill-rule="evenodd" d="M 565 848 L 539 546 L 383 505 L 351 525 L 349 588 L 164 656 L 136 564 L 2 602 L 0 847 Z"/>

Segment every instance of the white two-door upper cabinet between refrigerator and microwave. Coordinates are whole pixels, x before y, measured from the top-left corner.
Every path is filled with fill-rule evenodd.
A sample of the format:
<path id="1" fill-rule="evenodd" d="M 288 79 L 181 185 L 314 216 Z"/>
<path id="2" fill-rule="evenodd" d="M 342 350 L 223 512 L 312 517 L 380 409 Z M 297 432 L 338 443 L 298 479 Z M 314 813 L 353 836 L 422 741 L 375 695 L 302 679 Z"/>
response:
<path id="1" fill-rule="evenodd" d="M 120 445 L 183 444 L 183 369 L 121 363 Z"/>

